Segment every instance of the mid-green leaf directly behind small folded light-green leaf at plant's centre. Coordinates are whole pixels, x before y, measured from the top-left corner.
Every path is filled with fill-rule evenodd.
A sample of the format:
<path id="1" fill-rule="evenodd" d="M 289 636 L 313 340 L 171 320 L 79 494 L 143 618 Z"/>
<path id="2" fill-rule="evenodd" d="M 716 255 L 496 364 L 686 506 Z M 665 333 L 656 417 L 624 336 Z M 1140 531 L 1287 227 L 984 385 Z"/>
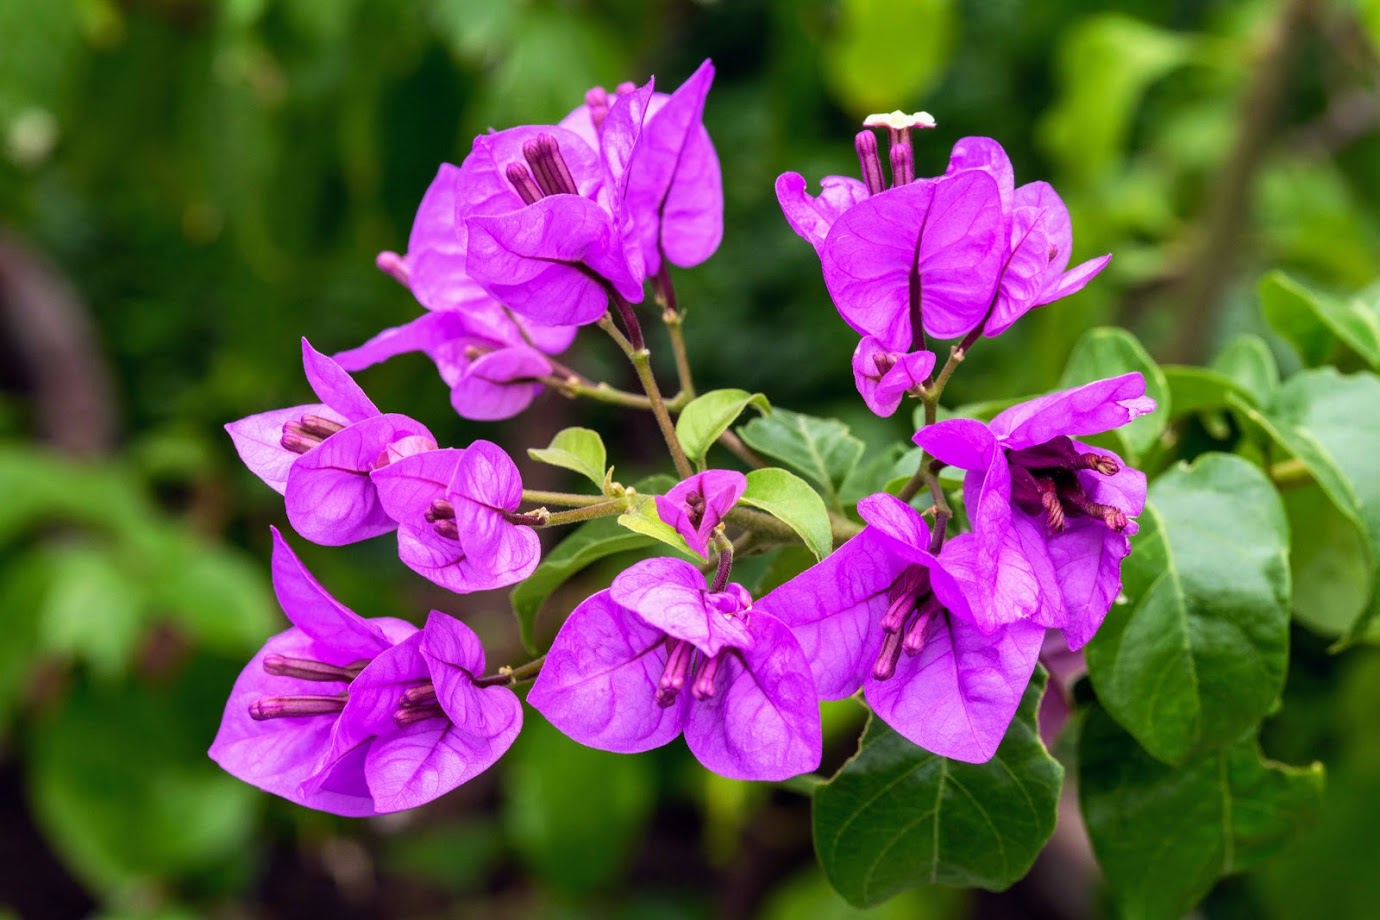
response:
<path id="1" fill-rule="evenodd" d="M 824 501 L 835 509 L 842 508 L 840 488 L 865 448 L 849 426 L 835 418 L 784 408 L 752 419 L 738 429 L 738 434 L 752 450 L 781 461 L 818 486 Z"/>

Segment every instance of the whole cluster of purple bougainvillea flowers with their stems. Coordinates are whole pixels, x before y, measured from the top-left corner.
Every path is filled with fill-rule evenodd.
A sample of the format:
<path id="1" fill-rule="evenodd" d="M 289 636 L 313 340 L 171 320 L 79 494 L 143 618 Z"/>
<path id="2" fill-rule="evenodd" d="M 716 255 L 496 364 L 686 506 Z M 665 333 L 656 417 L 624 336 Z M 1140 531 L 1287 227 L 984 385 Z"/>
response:
<path id="1" fill-rule="evenodd" d="M 915 743 L 984 761 L 1049 630 L 1070 652 L 1092 639 L 1119 593 L 1145 479 L 1074 439 L 1155 403 L 1127 374 L 985 422 L 936 421 L 967 349 L 1078 291 L 1108 258 L 1068 269 L 1067 210 L 1043 182 L 1016 188 L 989 138 L 959 141 L 944 175 L 916 178 L 912 134 L 933 119 L 874 116 L 856 141 L 862 179 L 825 177 L 818 196 L 798 174 L 777 181 L 787 221 L 818 252 L 839 314 L 861 337 L 851 370 L 864 401 L 879 415 L 907 396 L 926 408 L 911 481 L 860 501 L 858 524 L 831 517 L 814 495 L 782 498 L 799 497 L 792 483 L 809 488 L 784 470 L 755 487 L 741 472 L 705 469 L 702 446 L 691 468 L 672 421 L 696 401 L 668 266 L 702 262 L 722 236 L 719 163 L 701 123 L 712 77 L 705 62 L 669 95 L 650 81 L 595 88 L 559 124 L 477 138 L 426 190 L 407 254 L 378 258 L 426 312 L 334 359 L 304 341 L 320 403 L 226 426 L 246 465 L 284 495 L 298 534 L 342 545 L 396 531 L 400 560 L 455 593 L 523 581 L 541 561 L 537 528 L 595 517 L 618 514 L 683 557 L 629 566 L 574 608 L 545 657 L 486 676 L 461 622 L 439 611 L 422 628 L 360 618 L 275 531 L 273 583 L 293 626 L 268 640 L 230 694 L 211 748 L 228 771 L 338 814 L 408 808 L 508 749 L 522 726 L 511 687 L 533 676 L 527 702 L 575 741 L 633 753 L 683 735 L 707 768 L 733 778 L 816 770 L 820 701 L 860 690 Z M 872 127 L 889 138 L 889 188 Z M 671 400 L 635 309 L 647 284 L 676 349 L 682 392 Z M 624 349 L 644 394 L 558 363 L 595 323 Z M 930 338 L 960 339 L 937 374 Z M 679 481 L 649 501 L 602 469 L 602 443 L 588 457 L 570 452 L 584 432 L 546 454 L 562 452 L 560 465 L 596 483 L 602 474 L 600 494 L 527 492 L 497 444 L 442 447 L 406 415 L 379 412 L 349 375 L 413 350 L 436 363 L 466 418 L 508 418 L 544 388 L 650 410 Z M 729 423 L 718 425 L 720 443 L 763 466 Z M 944 481 L 954 472 L 963 517 L 949 506 L 956 480 Z M 923 510 L 912 501 L 922 488 Z M 802 513 L 842 546 L 753 600 L 730 581 L 734 552 L 814 532 Z"/>

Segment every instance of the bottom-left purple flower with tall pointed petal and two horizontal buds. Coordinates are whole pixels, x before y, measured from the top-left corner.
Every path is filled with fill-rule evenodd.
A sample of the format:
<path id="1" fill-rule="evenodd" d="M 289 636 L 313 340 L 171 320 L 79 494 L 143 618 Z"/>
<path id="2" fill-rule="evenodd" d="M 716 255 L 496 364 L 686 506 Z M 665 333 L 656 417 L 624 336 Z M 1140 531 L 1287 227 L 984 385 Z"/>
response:
<path id="1" fill-rule="evenodd" d="M 291 801 L 338 815 L 371 815 L 362 783 L 305 789 L 317 770 L 352 681 L 417 628 L 364 619 L 326 593 L 273 531 L 273 590 L 293 622 L 273 636 L 235 681 L 211 759 L 226 772 Z"/>

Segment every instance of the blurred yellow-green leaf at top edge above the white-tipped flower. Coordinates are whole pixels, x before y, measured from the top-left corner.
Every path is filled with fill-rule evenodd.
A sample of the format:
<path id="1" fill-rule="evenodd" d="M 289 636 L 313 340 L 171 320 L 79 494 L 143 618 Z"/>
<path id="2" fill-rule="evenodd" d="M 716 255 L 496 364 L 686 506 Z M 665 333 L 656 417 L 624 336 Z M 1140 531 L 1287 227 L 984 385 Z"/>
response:
<path id="1" fill-rule="evenodd" d="M 890 112 L 943 76 L 958 25 L 954 0 L 843 0 L 824 43 L 824 77 L 857 116 Z"/>

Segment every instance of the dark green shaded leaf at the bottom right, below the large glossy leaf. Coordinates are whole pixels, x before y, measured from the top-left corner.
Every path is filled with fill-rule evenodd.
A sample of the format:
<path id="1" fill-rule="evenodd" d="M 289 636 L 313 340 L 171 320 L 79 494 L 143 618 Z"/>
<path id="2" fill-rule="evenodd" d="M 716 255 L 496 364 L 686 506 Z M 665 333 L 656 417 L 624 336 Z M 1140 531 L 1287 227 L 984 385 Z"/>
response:
<path id="1" fill-rule="evenodd" d="M 1127 920 L 1190 913 L 1220 876 L 1283 850 L 1322 806 L 1322 766 L 1264 760 L 1253 732 L 1176 768 L 1097 708 L 1083 724 L 1078 775 L 1097 863 Z"/>

